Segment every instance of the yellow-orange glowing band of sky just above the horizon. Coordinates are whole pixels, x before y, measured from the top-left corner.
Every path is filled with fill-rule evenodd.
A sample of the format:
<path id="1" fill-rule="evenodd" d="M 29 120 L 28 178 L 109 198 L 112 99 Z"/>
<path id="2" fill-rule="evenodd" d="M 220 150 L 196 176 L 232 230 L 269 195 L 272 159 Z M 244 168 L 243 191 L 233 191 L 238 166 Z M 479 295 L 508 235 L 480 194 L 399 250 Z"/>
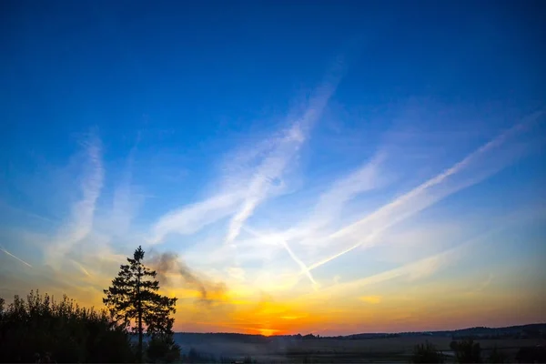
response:
<path id="1" fill-rule="evenodd" d="M 422 269 L 427 262 L 430 264 L 433 259 L 404 269 Z M 41 278 L 55 271 L 36 267 L 28 270 L 35 270 Z M 78 270 L 80 284 L 76 285 Z M 427 275 L 431 273 L 430 269 L 425 271 Z M 56 297 L 66 293 L 84 306 L 101 308 L 104 295 L 99 289 L 106 288 L 113 277 L 97 273 L 76 266 L 74 275 L 58 274 L 57 284 L 51 287 L 38 284 L 41 281 L 38 277 L 34 279 L 43 293 Z M 21 277 L 17 282 L 19 285 L 15 285 L 19 294 L 25 294 L 25 288 L 30 288 L 28 282 L 32 279 L 29 278 L 33 276 Z M 404 280 L 409 284 L 404 285 Z M 176 331 L 338 335 L 505 326 L 544 318 L 543 310 L 537 305 L 545 302 L 540 291 L 536 292 L 535 299 L 525 302 L 521 297 L 532 297 L 526 288 L 521 288 L 521 295 L 518 295 L 517 288 L 514 291 L 513 287 L 494 283 L 494 277 L 485 275 L 481 281 L 474 282 L 451 279 L 418 284 L 411 275 L 404 276 L 400 268 L 395 268 L 369 278 L 338 282 L 329 288 L 310 289 L 291 298 L 286 295 L 277 298 L 265 290 L 260 293 L 236 282 L 227 285 L 227 289 L 217 292 L 216 296 L 210 292 L 207 303 L 202 302 L 201 293 L 195 288 L 168 284 L 161 291 L 178 298 Z"/>

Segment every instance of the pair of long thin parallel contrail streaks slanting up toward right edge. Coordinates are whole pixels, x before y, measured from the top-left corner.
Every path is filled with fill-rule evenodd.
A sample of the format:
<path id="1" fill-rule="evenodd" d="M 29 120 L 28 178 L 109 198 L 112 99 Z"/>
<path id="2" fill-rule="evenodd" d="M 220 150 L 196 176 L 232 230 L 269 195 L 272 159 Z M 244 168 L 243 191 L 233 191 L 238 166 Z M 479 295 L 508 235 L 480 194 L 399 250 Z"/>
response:
<path id="1" fill-rule="evenodd" d="M 460 173 L 460 171 L 462 171 L 465 168 L 469 167 L 469 165 L 471 165 L 473 162 L 475 162 L 474 159 L 476 157 L 480 157 L 480 155 L 489 152 L 491 149 L 493 149 L 495 147 L 500 147 L 503 143 L 506 142 L 506 140 L 510 136 L 513 136 L 514 134 L 524 130 L 526 127 L 531 126 L 531 124 L 534 123 L 535 121 L 537 121 L 543 114 L 544 114 L 544 112 L 540 111 L 540 112 L 532 114 L 529 117 L 526 117 L 526 119 L 523 120 L 521 123 L 518 123 L 515 126 L 512 126 L 510 129 L 508 129 L 507 131 L 502 133 L 500 136 L 497 136 L 494 139 L 490 140 L 490 142 L 484 144 L 483 146 L 481 146 L 480 148 L 478 148 L 474 152 L 470 153 L 470 155 L 463 158 L 462 160 L 460 160 L 460 162 L 456 163 L 455 165 L 448 168 L 444 172 L 440 173 L 436 177 L 430 178 L 426 182 L 422 183 L 419 187 L 415 187 L 414 189 L 410 190 L 410 192 L 406 193 L 405 195 L 395 199 L 394 201 L 390 202 L 389 204 L 387 204 L 387 205 L 385 205 L 383 207 L 380 207 L 378 210 L 371 213 L 368 217 L 364 217 L 363 219 L 357 221 L 356 223 L 351 224 L 348 227 L 343 227 L 343 228 L 339 229 L 338 231 L 336 231 L 335 233 L 330 234 L 329 237 L 325 238 L 326 240 L 333 239 L 333 238 L 343 238 L 343 237 L 349 235 L 351 232 L 354 232 L 359 226 L 364 225 L 365 223 L 369 222 L 370 220 L 378 219 L 378 218 L 380 219 L 380 217 L 388 217 L 388 218 L 385 218 L 385 220 L 387 222 L 383 223 L 383 225 L 380 226 L 380 227 L 376 227 L 374 229 L 374 231 L 372 232 L 372 234 L 370 234 L 364 240 L 359 241 L 357 244 L 355 244 L 355 245 L 353 245 L 353 246 L 351 246 L 349 248 L 346 248 L 346 249 L 340 251 L 339 253 L 329 257 L 329 258 L 325 258 L 323 260 L 320 260 L 317 263 L 312 264 L 311 266 L 309 266 L 308 270 L 319 268 L 320 266 L 328 263 L 329 261 L 331 261 L 331 260 L 333 260 L 335 258 L 339 258 L 342 255 L 348 253 L 349 251 L 351 251 L 351 250 L 353 250 L 355 248 L 359 248 L 364 243 L 369 242 L 372 238 L 375 238 L 375 236 L 378 235 L 379 232 L 387 229 L 388 227 L 391 227 L 392 225 L 395 225 L 396 223 L 398 223 L 399 221 L 401 221 L 401 220 L 403 220 L 403 219 L 405 219 L 407 217 L 410 217 L 410 216 L 414 215 L 415 213 L 419 212 L 421 209 L 426 208 L 426 207 L 438 202 L 438 200 L 442 199 L 443 197 L 449 196 L 450 194 L 458 191 L 460 188 L 467 187 L 466 185 L 463 185 L 462 187 L 455 188 L 454 190 L 446 193 L 443 197 L 440 196 L 436 200 L 432 199 L 432 200 L 430 200 L 428 202 L 425 202 L 423 204 L 423 206 L 417 207 L 415 209 L 410 208 L 409 211 L 403 211 L 402 210 L 402 211 L 399 211 L 398 213 L 396 211 L 397 207 L 403 208 L 404 204 L 409 205 L 412 202 L 412 200 L 415 200 L 416 197 L 419 197 L 421 194 L 426 192 L 427 189 L 429 189 L 430 187 L 440 185 L 445 179 L 447 179 L 447 178 L 449 178 L 451 176 L 454 176 L 454 175 Z M 476 181 L 474 181 L 474 183 L 476 183 Z M 416 201 L 413 201 L 413 202 L 415 203 Z M 417 204 L 417 205 L 419 205 L 419 204 Z M 389 216 L 389 215 L 391 215 L 391 216 Z"/>

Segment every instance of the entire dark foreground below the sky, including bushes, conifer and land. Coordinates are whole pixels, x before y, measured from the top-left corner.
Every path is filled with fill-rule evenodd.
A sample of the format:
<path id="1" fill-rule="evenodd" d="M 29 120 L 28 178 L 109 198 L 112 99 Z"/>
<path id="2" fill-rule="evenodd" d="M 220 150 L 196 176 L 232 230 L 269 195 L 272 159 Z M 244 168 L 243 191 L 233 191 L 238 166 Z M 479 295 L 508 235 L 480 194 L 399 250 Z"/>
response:
<path id="1" fill-rule="evenodd" d="M 156 272 L 143 265 L 143 258 L 138 248 L 120 267 L 105 289 L 106 308 L 83 308 L 70 298 L 55 300 L 37 290 L 9 304 L 0 298 L 0 362 L 546 363 L 543 325 L 524 328 L 524 336 L 506 337 L 510 328 L 505 328 L 485 339 L 473 329 L 465 331 L 466 337 L 457 333 L 451 338 L 175 334 L 171 314 L 177 298 L 157 293 Z"/>

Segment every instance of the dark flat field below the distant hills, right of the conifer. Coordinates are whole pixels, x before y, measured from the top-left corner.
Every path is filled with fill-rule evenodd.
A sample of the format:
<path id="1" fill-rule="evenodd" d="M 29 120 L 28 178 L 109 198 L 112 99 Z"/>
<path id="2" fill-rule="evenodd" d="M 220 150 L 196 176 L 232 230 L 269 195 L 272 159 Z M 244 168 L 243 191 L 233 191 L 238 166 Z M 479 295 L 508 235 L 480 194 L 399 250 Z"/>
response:
<path id="1" fill-rule="evenodd" d="M 399 363 L 408 362 L 415 345 L 429 341 L 449 357 L 448 337 L 399 337 L 389 339 L 305 339 L 297 342 L 248 344 L 233 340 L 195 343 L 199 352 L 231 358 L 251 357 L 258 363 Z M 497 347 L 513 360 L 521 347 L 544 345 L 544 339 L 480 339 L 482 354 Z M 183 349 L 185 346 L 183 345 Z M 186 349 L 189 347 L 187 346 Z"/>

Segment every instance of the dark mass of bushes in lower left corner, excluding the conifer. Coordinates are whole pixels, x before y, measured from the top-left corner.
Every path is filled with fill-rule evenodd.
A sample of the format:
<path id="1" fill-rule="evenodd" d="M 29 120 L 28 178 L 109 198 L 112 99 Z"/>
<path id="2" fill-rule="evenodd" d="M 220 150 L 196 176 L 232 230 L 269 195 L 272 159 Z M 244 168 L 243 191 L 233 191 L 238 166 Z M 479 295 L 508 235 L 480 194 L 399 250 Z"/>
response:
<path id="1" fill-rule="evenodd" d="M 0 300 L 0 362 L 131 362 L 133 349 L 125 330 L 106 311 L 82 308 L 66 296 L 60 302 L 31 291 Z"/>

